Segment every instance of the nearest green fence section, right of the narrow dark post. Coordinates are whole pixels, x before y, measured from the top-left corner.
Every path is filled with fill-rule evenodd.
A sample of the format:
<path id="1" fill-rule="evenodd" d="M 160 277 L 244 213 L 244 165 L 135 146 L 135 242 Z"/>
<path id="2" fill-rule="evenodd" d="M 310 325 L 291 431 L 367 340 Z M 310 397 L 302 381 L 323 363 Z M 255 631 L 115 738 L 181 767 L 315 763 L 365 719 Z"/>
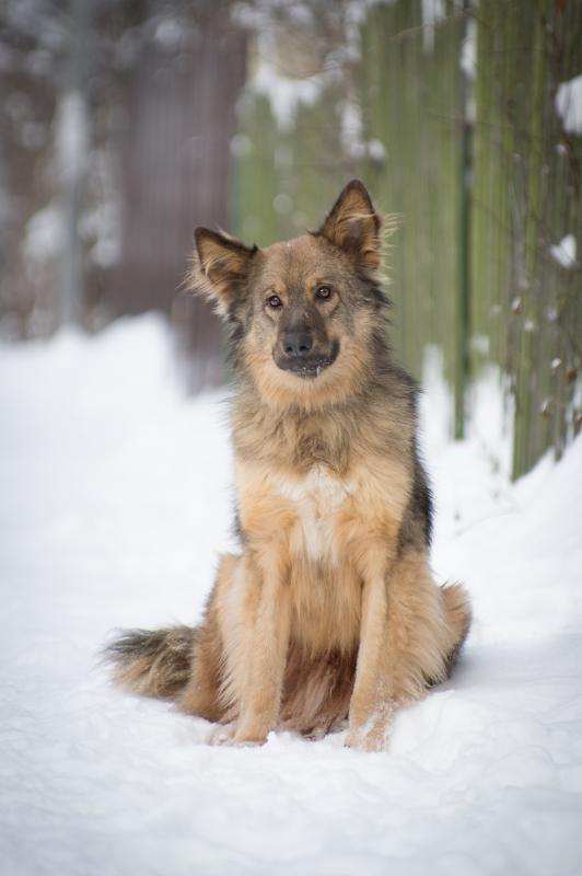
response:
<path id="1" fill-rule="evenodd" d="M 571 234 L 582 258 L 582 138 L 555 96 L 582 73 L 582 3 L 487 0 L 476 16 L 472 366 L 509 378 L 517 476 L 580 425 L 582 274 L 559 247 Z"/>

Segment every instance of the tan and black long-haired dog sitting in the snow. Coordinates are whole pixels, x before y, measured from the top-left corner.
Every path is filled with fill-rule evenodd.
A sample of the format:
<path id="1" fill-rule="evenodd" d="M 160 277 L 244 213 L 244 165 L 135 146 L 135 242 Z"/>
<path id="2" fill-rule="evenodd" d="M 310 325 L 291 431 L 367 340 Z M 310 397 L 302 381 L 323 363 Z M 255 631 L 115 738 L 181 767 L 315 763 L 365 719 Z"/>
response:
<path id="1" fill-rule="evenodd" d="M 386 228 L 386 223 L 384 223 Z M 432 498 L 412 378 L 393 362 L 383 218 L 346 185 L 317 231 L 266 249 L 195 232 L 190 287 L 228 327 L 238 554 L 197 627 L 128 631 L 118 683 L 213 722 L 383 750 L 398 708 L 450 675 L 470 624 L 429 567 Z"/>

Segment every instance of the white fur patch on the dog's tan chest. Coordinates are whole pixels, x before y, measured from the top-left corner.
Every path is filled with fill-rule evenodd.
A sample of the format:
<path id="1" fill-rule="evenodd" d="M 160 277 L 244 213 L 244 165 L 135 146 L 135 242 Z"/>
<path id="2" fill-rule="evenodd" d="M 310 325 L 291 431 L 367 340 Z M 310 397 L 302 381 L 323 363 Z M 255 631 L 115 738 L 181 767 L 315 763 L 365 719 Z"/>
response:
<path id="1" fill-rule="evenodd" d="M 306 554 L 311 560 L 337 562 L 337 516 L 353 493 L 353 484 L 324 465 L 314 465 L 300 481 L 278 475 L 271 486 L 295 511 L 292 552 Z"/>

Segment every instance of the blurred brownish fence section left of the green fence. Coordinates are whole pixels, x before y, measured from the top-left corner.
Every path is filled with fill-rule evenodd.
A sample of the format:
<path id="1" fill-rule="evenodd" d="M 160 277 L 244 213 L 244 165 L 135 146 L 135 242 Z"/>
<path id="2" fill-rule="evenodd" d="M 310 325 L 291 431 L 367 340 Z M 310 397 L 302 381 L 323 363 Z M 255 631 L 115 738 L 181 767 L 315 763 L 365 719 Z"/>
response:
<path id="1" fill-rule="evenodd" d="M 195 227 L 231 226 L 230 142 L 246 38 L 229 3 L 201 2 L 172 39 L 150 42 L 131 80 L 114 301 L 118 313 L 173 312 L 196 390 L 222 381 L 221 333 L 210 309 L 179 289 Z"/>

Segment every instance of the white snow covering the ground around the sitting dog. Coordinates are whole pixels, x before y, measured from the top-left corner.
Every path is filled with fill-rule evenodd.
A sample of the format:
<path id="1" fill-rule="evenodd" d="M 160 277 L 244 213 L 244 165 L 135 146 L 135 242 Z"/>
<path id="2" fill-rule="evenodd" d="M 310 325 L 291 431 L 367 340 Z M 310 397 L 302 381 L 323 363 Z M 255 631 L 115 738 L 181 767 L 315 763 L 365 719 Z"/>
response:
<path id="1" fill-rule="evenodd" d="M 486 451 L 444 441 L 429 381 L 434 567 L 476 613 L 454 679 L 389 753 L 209 748 L 95 660 L 113 627 L 194 621 L 229 540 L 224 412 L 172 377 L 152 316 L 0 348 L 0 872 L 582 873 L 582 441 L 509 486 L 488 393 Z"/>

